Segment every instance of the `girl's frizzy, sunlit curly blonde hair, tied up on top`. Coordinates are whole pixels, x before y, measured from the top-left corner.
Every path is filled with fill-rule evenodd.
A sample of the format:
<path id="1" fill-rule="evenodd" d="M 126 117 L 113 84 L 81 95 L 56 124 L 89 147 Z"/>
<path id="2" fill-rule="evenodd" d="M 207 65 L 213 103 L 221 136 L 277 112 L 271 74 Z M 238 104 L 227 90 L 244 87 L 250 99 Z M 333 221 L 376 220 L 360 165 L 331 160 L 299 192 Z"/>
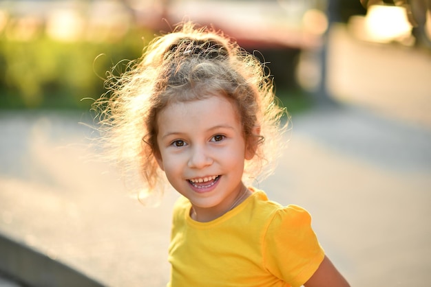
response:
<path id="1" fill-rule="evenodd" d="M 108 158 L 120 165 L 123 176 L 137 174 L 143 179 L 132 188 L 138 196 L 162 191 L 166 185 L 155 158 L 156 119 L 172 102 L 228 97 L 238 108 L 244 139 L 255 143 L 255 157 L 245 163 L 244 181 L 264 179 L 273 171 L 271 163 L 283 146 L 286 124 L 280 125 L 280 118 L 285 110 L 275 102 L 265 65 L 222 32 L 182 23 L 154 38 L 120 76 L 108 76 L 108 92 L 93 106 L 98 130 Z M 253 134 L 255 127 L 259 134 Z"/>

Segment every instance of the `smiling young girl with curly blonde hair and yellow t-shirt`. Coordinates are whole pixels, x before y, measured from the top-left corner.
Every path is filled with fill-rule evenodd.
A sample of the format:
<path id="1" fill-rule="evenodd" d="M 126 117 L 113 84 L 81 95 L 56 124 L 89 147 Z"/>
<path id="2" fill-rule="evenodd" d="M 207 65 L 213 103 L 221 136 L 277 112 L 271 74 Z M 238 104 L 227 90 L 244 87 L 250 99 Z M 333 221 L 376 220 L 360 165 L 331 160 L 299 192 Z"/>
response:
<path id="1" fill-rule="evenodd" d="M 259 60 L 185 23 L 109 87 L 96 107 L 116 160 L 139 171 L 147 192 L 167 179 L 181 194 L 167 286 L 348 286 L 308 212 L 246 183 L 268 174 L 284 130 Z"/>

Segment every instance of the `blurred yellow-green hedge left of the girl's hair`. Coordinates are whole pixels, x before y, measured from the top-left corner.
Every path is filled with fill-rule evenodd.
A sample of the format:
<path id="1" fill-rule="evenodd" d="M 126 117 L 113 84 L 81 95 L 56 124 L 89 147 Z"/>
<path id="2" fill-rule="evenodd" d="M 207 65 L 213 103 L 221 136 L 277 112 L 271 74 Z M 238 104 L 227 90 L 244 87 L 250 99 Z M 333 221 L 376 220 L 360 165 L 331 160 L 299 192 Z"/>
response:
<path id="1" fill-rule="evenodd" d="M 88 108 L 104 93 L 105 73 L 138 58 L 154 35 L 133 30 L 116 43 L 60 42 L 46 36 L 8 41 L 0 35 L 0 108 Z M 99 56 L 101 55 L 101 56 Z"/>

